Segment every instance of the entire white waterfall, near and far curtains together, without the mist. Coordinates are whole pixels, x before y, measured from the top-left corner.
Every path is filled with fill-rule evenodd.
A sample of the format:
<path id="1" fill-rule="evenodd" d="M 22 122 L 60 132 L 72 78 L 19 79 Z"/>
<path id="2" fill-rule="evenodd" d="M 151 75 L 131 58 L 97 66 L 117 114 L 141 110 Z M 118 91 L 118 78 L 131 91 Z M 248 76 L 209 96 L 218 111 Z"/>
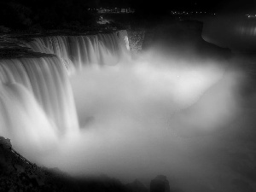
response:
<path id="1" fill-rule="evenodd" d="M 129 53 L 126 31 L 40 37 L 20 44 L 47 55 L 0 59 L 0 135 L 31 143 L 79 129 L 69 73 L 115 65 Z"/>

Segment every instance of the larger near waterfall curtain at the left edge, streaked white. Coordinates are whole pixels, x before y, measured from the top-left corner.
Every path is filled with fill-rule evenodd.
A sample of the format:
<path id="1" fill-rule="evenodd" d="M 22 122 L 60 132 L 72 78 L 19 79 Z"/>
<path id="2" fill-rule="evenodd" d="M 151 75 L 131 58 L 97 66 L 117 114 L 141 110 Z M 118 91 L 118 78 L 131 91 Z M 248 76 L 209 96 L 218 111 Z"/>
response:
<path id="1" fill-rule="evenodd" d="M 31 119 L 45 113 L 59 133 L 79 127 L 67 72 L 57 57 L 0 60 L 0 82 L 1 130 L 19 125 L 12 113 Z"/>

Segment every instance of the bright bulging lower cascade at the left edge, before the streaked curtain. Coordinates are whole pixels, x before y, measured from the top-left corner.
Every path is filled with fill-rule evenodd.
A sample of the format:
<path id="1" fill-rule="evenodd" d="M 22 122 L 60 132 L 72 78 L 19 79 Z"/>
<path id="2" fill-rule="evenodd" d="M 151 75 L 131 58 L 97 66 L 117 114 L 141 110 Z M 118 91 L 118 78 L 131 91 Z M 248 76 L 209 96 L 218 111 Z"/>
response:
<path id="1" fill-rule="evenodd" d="M 9 137 L 16 149 L 36 152 L 55 146 L 57 126 L 25 86 L 1 84 L 0 108 L 0 135 Z"/>

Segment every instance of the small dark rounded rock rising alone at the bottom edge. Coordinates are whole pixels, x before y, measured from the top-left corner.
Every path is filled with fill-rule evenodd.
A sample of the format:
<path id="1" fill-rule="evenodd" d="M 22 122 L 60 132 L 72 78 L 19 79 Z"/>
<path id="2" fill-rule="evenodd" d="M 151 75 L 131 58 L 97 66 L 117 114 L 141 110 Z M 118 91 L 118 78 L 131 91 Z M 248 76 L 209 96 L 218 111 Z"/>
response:
<path id="1" fill-rule="evenodd" d="M 159 175 L 150 182 L 150 192 L 171 192 L 166 176 Z"/>

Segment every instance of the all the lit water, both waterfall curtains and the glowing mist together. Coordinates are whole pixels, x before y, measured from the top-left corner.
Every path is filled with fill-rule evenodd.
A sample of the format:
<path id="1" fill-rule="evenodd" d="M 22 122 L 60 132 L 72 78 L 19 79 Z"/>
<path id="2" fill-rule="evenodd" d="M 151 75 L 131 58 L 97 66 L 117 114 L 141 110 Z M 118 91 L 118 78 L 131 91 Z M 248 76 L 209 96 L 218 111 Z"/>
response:
<path id="1" fill-rule="evenodd" d="M 234 179 L 252 187 L 254 143 L 241 136 L 253 133 L 254 108 L 241 102 L 242 70 L 154 49 L 131 60 L 125 35 L 35 38 L 26 46 L 57 56 L 1 60 L 0 135 L 73 175 L 148 183 L 164 174 L 184 191 L 236 191 Z"/>

